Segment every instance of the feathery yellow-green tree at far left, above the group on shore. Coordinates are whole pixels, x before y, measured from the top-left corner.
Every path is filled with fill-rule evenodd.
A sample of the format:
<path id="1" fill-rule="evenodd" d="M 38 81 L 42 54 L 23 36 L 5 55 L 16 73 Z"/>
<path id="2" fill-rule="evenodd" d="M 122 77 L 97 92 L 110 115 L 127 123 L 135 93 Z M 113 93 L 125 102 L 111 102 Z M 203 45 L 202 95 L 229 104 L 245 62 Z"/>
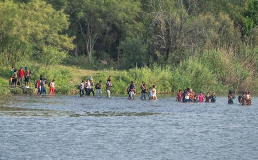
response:
<path id="1" fill-rule="evenodd" d="M 52 45 L 61 50 L 73 49 L 72 38 L 60 34 L 68 28 L 68 17 L 41 0 L 28 3 L 0 1 L 1 58 L 15 63 Z"/>

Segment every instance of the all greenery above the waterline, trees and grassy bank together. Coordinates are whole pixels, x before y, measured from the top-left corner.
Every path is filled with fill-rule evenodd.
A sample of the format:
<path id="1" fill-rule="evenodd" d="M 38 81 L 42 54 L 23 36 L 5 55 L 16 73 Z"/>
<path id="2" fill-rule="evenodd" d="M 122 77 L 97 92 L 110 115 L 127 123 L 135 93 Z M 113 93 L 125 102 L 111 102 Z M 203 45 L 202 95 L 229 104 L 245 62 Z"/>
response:
<path id="1" fill-rule="evenodd" d="M 90 75 L 112 76 L 111 94 L 131 81 L 137 93 L 142 81 L 160 94 L 258 90 L 258 0 L 14 0 L 0 15 L 0 94 L 33 94 L 40 75 L 57 94 Z M 33 71 L 31 89 L 8 88 L 12 66 Z"/>

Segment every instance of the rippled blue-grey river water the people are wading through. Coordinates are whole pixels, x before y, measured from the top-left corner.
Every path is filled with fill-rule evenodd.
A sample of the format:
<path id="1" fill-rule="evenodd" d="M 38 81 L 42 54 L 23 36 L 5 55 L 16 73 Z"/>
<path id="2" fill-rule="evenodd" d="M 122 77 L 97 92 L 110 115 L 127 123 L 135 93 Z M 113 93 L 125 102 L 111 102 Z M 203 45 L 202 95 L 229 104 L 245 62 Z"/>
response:
<path id="1" fill-rule="evenodd" d="M 0 108 L 0 159 L 258 159 L 252 106 L 14 95 Z"/>

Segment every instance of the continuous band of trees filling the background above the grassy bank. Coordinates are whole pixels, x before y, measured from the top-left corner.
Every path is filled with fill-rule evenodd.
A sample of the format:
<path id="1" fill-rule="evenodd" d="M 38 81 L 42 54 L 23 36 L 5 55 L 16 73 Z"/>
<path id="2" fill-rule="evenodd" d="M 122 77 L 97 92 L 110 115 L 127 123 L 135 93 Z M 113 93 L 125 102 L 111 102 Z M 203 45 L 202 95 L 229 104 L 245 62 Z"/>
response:
<path id="1" fill-rule="evenodd" d="M 177 65 L 207 44 L 256 47 L 257 10 L 258 0 L 2 0 L 0 55 Z"/>

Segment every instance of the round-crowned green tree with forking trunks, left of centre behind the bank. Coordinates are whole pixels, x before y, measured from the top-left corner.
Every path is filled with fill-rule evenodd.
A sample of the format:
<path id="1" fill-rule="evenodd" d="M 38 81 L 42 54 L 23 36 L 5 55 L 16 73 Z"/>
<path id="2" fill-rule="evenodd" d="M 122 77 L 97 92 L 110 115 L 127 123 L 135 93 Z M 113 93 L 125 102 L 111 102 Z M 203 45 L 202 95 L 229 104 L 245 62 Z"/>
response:
<path id="1" fill-rule="evenodd" d="M 139 5 L 132 0 L 69 1 L 67 9 L 72 20 L 71 28 L 76 30 L 76 41 L 81 42 L 80 51 L 91 60 L 96 42 L 97 46 L 107 47 L 116 42 L 113 48 L 117 48 L 121 37 L 133 32 Z"/>

